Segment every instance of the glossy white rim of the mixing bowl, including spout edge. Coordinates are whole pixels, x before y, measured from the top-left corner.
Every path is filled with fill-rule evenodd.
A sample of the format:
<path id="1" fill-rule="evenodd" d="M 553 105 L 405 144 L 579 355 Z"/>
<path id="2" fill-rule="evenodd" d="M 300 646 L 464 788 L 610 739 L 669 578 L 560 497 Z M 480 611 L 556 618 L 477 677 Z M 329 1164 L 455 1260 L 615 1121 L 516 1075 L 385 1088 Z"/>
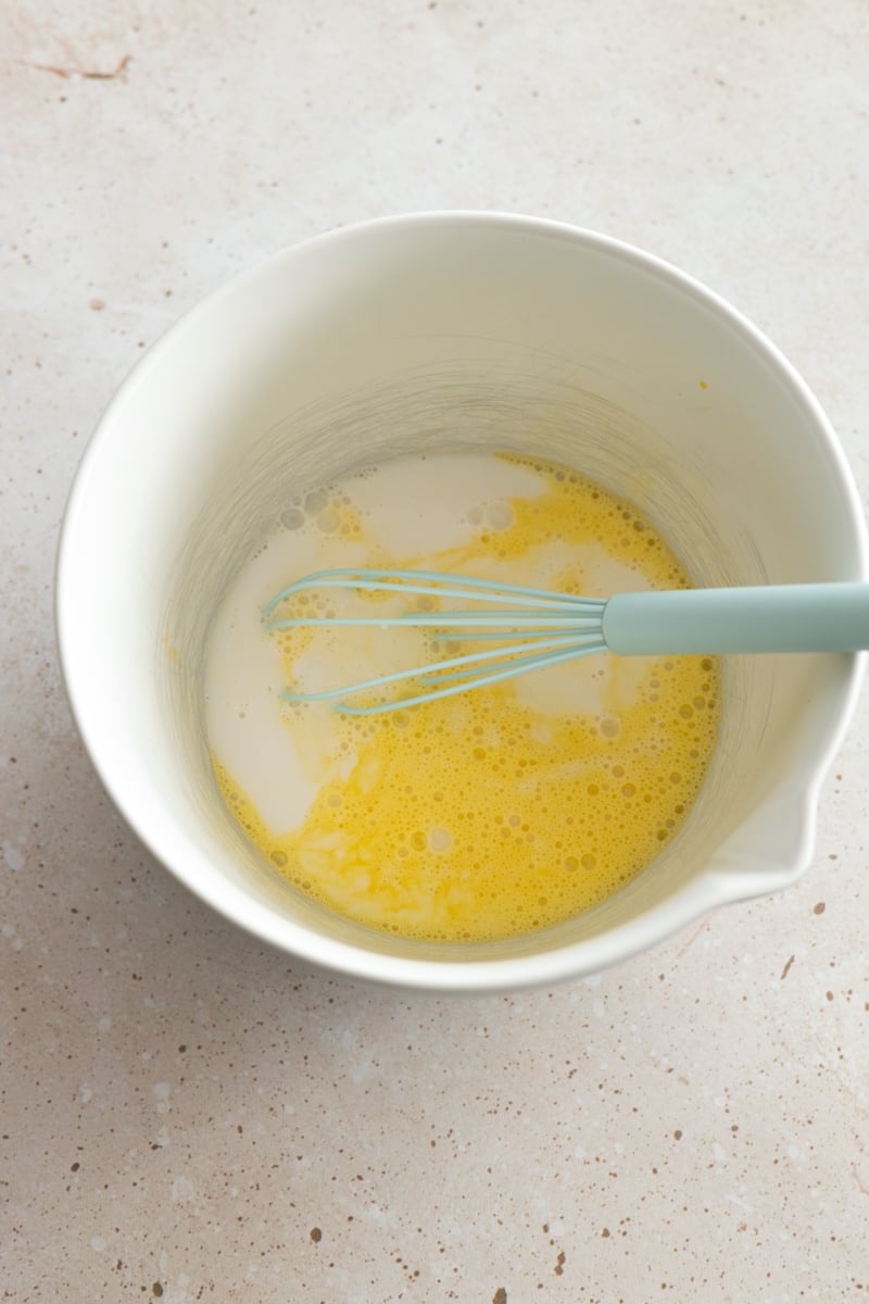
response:
<path id="1" fill-rule="evenodd" d="M 778 868 L 773 882 L 770 882 L 769 875 L 763 874 L 754 876 L 750 874 L 743 875 L 737 880 L 726 872 L 717 871 L 713 861 L 706 870 L 654 908 L 591 938 L 513 958 L 490 960 L 469 957 L 468 960 L 440 961 L 410 956 L 390 956 L 365 947 L 324 938 L 322 934 L 310 931 L 287 919 L 287 917 L 280 915 L 276 910 L 270 910 L 259 902 L 253 901 L 240 888 L 210 879 L 207 872 L 202 874 L 201 867 L 206 866 L 207 868 L 207 859 L 201 852 L 192 857 L 189 854 L 181 857 L 171 854 L 171 849 L 167 849 L 167 841 L 171 842 L 172 838 L 167 840 L 158 836 L 159 831 L 155 831 L 138 818 L 135 793 L 129 793 L 124 789 L 117 776 L 111 772 L 111 765 L 104 760 L 100 733 L 87 709 L 87 699 L 93 694 L 93 687 L 89 686 L 87 677 L 82 673 L 83 665 L 77 648 L 79 639 L 74 623 L 73 604 L 69 599 L 70 587 L 74 588 L 76 583 L 76 532 L 81 514 L 86 509 L 94 469 L 99 463 L 103 447 L 116 437 L 119 415 L 122 413 L 135 389 L 147 379 L 152 368 L 159 365 L 165 353 L 173 349 L 185 335 L 195 331 L 199 322 L 210 316 L 215 308 L 219 308 L 224 300 L 235 297 L 248 287 L 255 284 L 258 279 L 270 276 L 275 267 L 292 265 L 294 261 L 306 258 L 314 249 L 321 249 L 330 244 L 337 245 L 360 239 L 363 240 L 369 235 L 388 232 L 390 230 L 410 230 L 414 227 L 436 230 L 463 224 L 477 226 L 478 228 L 512 230 L 532 236 L 545 235 L 562 239 L 569 244 L 582 244 L 586 248 L 611 256 L 621 263 L 632 265 L 646 274 L 653 274 L 658 279 L 666 280 L 670 286 L 681 289 L 689 297 L 698 301 L 706 310 L 711 310 L 727 322 L 782 377 L 793 396 L 810 416 L 818 434 L 818 446 L 823 450 L 833 467 L 842 494 L 843 511 L 848 515 L 855 531 L 857 540 L 856 556 L 853 558 L 855 570 L 859 572 L 859 578 L 864 580 L 869 579 L 869 537 L 862 506 L 851 467 L 833 425 L 796 368 L 769 336 L 756 327 L 739 309 L 694 276 L 666 259 L 614 236 L 586 227 L 548 218 L 489 209 L 421 210 L 391 214 L 337 227 L 313 235 L 272 253 L 267 258 L 231 276 L 207 293 L 182 313 L 147 349 L 145 356 L 137 360 L 98 420 L 74 473 L 57 542 L 55 630 L 68 700 L 91 763 L 113 805 L 130 829 L 176 879 L 235 925 L 258 939 L 275 945 L 284 953 L 289 953 L 317 968 L 337 971 L 357 979 L 387 985 L 393 988 L 429 991 L 433 994 L 465 992 L 473 995 L 555 985 L 567 979 L 599 973 L 614 964 L 619 964 L 641 951 L 657 945 L 718 905 L 775 891 L 795 882 L 804 872 L 812 858 L 819 789 L 853 715 L 865 673 L 866 653 L 860 652 L 843 657 L 843 690 L 839 709 L 829 722 L 826 737 L 818 741 L 812 765 L 806 767 L 801 776 L 799 792 L 803 811 L 803 836 L 800 854 L 796 857 L 793 867 L 788 874 L 783 874 Z M 793 786 L 793 777 L 791 777 L 790 784 Z M 178 842 L 177 837 L 175 841 L 176 844 Z M 195 853 L 192 842 L 190 849 Z"/>

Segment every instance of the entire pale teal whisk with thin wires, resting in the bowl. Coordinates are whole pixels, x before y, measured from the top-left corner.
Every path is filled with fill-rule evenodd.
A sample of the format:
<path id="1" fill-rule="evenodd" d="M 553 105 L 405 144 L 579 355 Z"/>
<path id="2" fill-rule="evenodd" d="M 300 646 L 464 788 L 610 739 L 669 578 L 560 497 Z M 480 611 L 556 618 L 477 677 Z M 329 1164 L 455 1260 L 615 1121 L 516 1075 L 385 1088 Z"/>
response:
<path id="1" fill-rule="evenodd" d="M 457 610 L 409 610 L 400 615 L 284 614 L 311 589 L 399 593 L 474 604 Z M 489 604 L 489 605 L 486 605 Z M 319 692 L 284 691 L 291 702 L 336 702 L 348 715 L 382 715 L 578 657 L 681 656 L 728 652 L 856 652 L 869 648 L 869 584 L 761 584 L 616 593 L 610 599 L 504 584 L 427 570 L 323 570 L 288 584 L 263 610 L 268 630 L 305 626 L 421 629 L 435 644 L 487 643 L 425 665 L 375 675 Z M 451 648 L 444 647 L 448 652 Z M 369 705 L 358 694 L 396 683 L 421 691 Z"/>

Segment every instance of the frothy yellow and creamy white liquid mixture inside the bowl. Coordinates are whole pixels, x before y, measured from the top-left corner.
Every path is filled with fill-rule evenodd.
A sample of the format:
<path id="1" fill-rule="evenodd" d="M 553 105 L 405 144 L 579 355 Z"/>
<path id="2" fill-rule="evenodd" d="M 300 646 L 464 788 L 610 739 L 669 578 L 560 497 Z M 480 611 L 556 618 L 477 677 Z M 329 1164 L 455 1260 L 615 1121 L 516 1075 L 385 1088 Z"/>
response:
<path id="1" fill-rule="evenodd" d="M 691 587 L 636 507 L 539 458 L 412 455 L 288 502 L 218 613 L 206 673 L 220 793 L 275 872 L 374 930 L 483 941 L 569 919 L 654 859 L 709 768 L 717 661 L 593 656 L 374 717 L 285 702 L 433 656 L 417 630 L 263 627 L 285 584 L 348 566 L 591 597 Z M 397 614 L 414 600 L 297 601 Z"/>

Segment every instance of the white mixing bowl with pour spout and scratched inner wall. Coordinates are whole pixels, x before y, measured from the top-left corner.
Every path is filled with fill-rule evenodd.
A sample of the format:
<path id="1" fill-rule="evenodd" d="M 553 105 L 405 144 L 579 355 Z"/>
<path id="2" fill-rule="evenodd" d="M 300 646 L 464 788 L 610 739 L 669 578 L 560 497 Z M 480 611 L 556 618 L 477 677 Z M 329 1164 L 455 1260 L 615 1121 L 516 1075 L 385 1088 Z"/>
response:
<path id="1" fill-rule="evenodd" d="M 76 717 L 154 854 L 284 951 L 406 987 L 504 990 L 599 970 L 808 865 L 862 657 L 734 657 L 722 739 L 680 835 L 547 932 L 403 941 L 270 874 L 216 793 L 208 623 L 307 485 L 410 449 L 538 452 L 633 499 L 706 584 L 865 579 L 842 451 L 782 355 L 694 280 L 526 218 L 420 214 L 281 253 L 184 317 L 103 417 L 64 524 L 57 626 Z"/>

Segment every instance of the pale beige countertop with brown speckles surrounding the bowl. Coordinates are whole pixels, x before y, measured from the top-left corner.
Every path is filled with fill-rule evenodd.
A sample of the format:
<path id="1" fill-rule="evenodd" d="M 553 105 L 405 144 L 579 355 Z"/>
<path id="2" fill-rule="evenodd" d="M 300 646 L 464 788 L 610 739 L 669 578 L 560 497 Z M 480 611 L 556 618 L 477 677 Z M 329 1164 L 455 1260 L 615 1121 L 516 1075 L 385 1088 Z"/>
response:
<path id="1" fill-rule="evenodd" d="M 700 276 L 803 372 L 865 498 L 864 0 L 0 21 L 3 1299 L 869 1299 L 869 698 L 799 887 L 556 991 L 409 998 L 262 949 L 149 858 L 51 614 L 73 471 L 142 349 L 237 269 L 409 209 L 562 218 Z"/>

